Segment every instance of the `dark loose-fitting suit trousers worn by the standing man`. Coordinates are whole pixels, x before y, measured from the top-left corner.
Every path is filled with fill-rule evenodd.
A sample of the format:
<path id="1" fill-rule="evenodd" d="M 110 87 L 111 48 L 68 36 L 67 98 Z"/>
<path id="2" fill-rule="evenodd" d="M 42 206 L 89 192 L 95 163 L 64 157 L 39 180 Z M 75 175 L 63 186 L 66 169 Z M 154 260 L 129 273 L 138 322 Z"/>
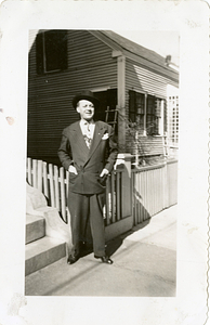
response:
<path id="1" fill-rule="evenodd" d="M 94 255 L 105 256 L 104 203 L 105 193 L 84 195 L 69 191 L 68 208 L 70 212 L 73 256 L 80 253 L 82 242 L 90 243 L 90 240 L 93 242 Z"/>

